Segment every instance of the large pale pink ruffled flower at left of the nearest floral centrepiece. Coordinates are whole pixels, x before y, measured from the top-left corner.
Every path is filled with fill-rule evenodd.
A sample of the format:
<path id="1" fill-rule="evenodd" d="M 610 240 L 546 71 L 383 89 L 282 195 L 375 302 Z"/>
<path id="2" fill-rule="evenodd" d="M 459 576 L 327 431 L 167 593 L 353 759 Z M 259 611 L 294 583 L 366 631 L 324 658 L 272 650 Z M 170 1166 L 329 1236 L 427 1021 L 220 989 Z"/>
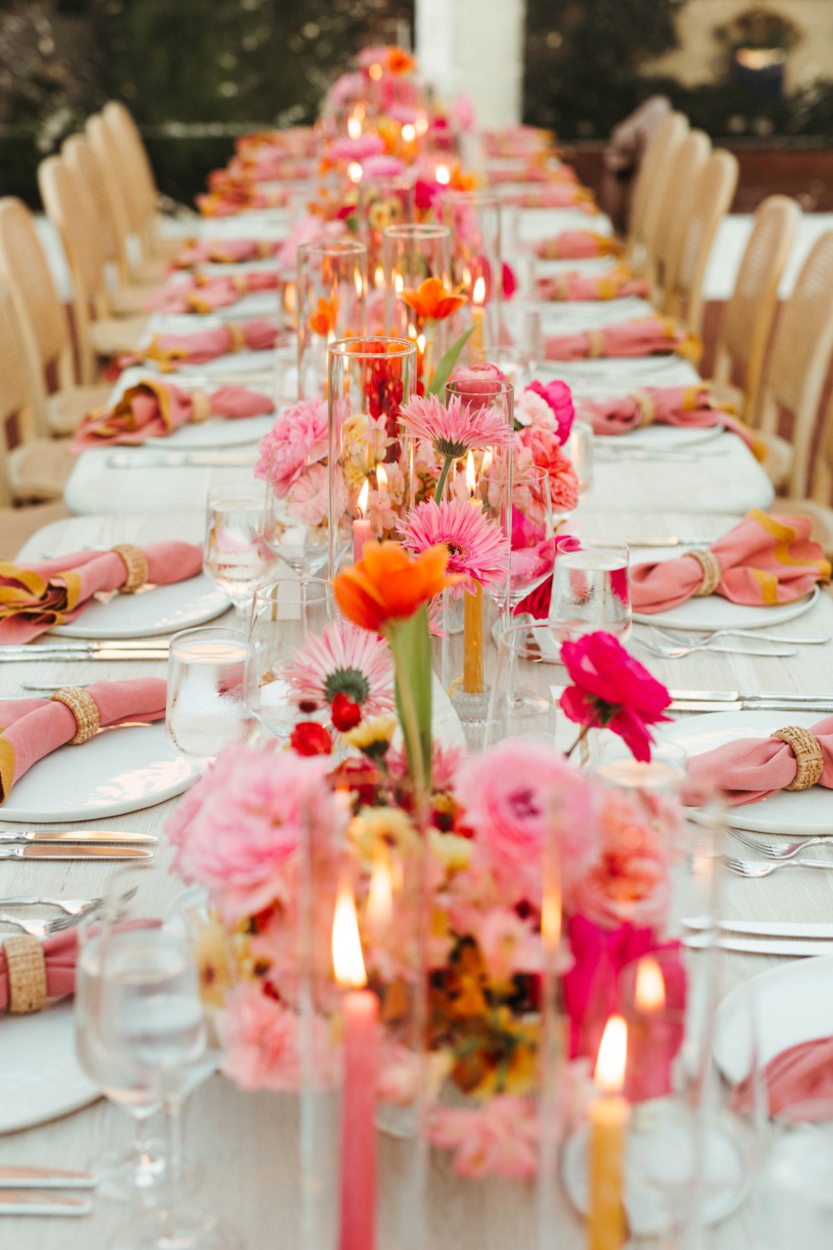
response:
<path id="1" fill-rule="evenodd" d="M 342 805 L 325 784 L 331 768 L 326 755 L 229 744 L 169 818 L 177 871 L 207 888 L 229 924 L 286 891 L 306 822 L 322 842 L 343 828 Z"/>

